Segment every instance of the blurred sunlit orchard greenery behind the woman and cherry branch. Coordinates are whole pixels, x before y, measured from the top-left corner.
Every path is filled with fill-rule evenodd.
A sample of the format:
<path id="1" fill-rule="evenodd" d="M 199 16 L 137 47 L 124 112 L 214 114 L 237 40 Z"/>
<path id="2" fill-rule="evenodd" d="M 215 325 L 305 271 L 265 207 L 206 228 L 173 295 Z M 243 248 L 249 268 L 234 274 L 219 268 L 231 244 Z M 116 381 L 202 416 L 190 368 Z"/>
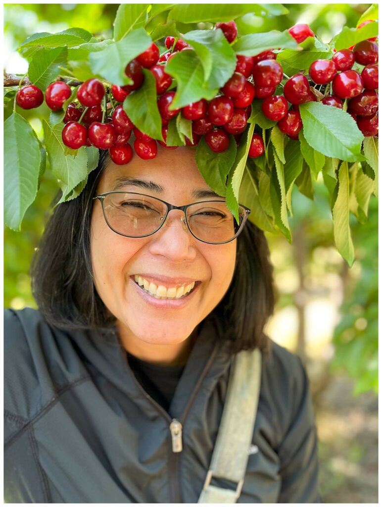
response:
<path id="1" fill-rule="evenodd" d="M 277 4 L 280 6 L 281 4 Z M 275 4 L 275 6 L 277 6 Z M 308 23 L 324 42 L 343 25 L 355 27 L 370 4 L 285 4 L 288 14 L 265 19 L 248 14 L 236 20 L 239 35 L 284 30 Z M 4 69 L 23 75 L 27 62 L 16 48 L 36 32 L 81 27 L 99 39 L 112 37 L 118 4 L 8 4 L 4 6 Z M 199 28 L 205 28 L 206 23 Z M 183 32 L 198 28 L 184 25 Z M 5 119 L 12 113 L 6 104 Z M 46 111 L 43 108 L 46 107 Z M 25 117 L 39 137 L 46 105 Z M 325 503 L 376 503 L 377 494 L 377 259 L 378 208 L 371 197 L 369 218 L 359 224 L 351 215 L 355 258 L 351 268 L 334 248 L 327 190 L 320 178 L 315 201 L 298 191 L 292 198 L 293 244 L 266 233 L 279 295 L 268 323 L 269 336 L 297 353 L 307 367 L 319 436 L 320 492 Z M 28 274 L 31 256 L 58 190 L 50 171 L 37 199 L 27 210 L 21 232 L 5 230 L 5 306 L 35 307 Z"/>

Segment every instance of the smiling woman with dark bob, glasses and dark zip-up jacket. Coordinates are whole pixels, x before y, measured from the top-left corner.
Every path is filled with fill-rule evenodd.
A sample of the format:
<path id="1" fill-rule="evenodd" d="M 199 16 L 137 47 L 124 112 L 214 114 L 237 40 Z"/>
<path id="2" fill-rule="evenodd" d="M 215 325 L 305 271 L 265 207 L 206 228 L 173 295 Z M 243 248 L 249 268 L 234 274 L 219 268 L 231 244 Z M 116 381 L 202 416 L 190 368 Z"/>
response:
<path id="1" fill-rule="evenodd" d="M 186 222 L 164 202 L 195 205 Z M 308 379 L 263 334 L 269 251 L 239 211 L 241 227 L 186 147 L 125 166 L 103 153 L 55 208 L 32 270 L 39 310 L 5 316 L 7 502 L 198 502 L 235 354 L 254 348 L 260 395 L 237 501 L 319 501 Z"/>

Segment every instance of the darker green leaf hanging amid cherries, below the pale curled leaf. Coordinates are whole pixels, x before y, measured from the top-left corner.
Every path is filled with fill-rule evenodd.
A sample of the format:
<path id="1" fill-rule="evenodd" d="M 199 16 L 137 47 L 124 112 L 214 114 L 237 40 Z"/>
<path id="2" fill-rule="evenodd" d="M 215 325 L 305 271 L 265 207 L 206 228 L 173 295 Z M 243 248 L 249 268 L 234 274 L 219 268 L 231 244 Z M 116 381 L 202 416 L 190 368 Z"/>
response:
<path id="1" fill-rule="evenodd" d="M 143 85 L 125 98 L 123 107 L 127 116 L 141 132 L 148 134 L 154 139 L 163 141 L 162 121 L 157 103 L 156 81 L 146 68 L 143 69 L 143 74 Z"/>

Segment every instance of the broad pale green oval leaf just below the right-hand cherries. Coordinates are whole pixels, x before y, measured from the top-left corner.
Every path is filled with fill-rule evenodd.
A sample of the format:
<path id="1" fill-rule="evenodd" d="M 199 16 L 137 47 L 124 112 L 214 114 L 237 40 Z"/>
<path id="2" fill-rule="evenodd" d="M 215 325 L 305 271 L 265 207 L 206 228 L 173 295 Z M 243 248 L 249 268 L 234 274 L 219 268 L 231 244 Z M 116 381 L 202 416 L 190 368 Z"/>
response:
<path id="1" fill-rule="evenodd" d="M 328 157 L 361 161 L 363 135 L 342 109 L 321 102 L 300 104 L 303 134 L 308 144 Z"/>

